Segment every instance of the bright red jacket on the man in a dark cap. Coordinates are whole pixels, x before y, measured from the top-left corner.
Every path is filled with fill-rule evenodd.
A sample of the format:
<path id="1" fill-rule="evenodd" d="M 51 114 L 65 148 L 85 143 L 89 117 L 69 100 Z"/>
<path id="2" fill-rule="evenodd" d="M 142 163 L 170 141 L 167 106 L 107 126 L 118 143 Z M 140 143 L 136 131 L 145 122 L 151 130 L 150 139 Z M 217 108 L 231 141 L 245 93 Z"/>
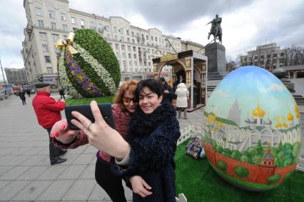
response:
<path id="1" fill-rule="evenodd" d="M 61 110 L 64 110 L 66 103 L 56 101 L 49 93 L 37 91 L 32 101 L 38 123 L 44 128 L 51 128 L 57 121 L 61 120 Z"/>

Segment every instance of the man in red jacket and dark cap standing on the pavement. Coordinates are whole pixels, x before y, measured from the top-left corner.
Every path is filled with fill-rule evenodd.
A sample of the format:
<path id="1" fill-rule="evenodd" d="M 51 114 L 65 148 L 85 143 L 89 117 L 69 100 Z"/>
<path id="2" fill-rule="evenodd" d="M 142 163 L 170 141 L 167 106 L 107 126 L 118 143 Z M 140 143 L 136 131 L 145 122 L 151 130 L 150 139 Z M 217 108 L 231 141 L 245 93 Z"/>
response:
<path id="1" fill-rule="evenodd" d="M 37 94 L 32 101 L 38 123 L 40 126 L 44 127 L 49 133 L 49 149 L 50 149 L 50 160 L 51 165 L 63 163 L 66 158 L 59 158 L 61 154 L 66 153 L 66 151 L 61 150 L 61 148 L 56 148 L 52 143 L 52 138 L 50 136 L 52 126 L 61 120 L 61 110 L 66 107 L 66 101 L 61 99 L 61 101 L 56 101 L 51 98 L 51 86 L 46 83 L 35 84 Z"/>

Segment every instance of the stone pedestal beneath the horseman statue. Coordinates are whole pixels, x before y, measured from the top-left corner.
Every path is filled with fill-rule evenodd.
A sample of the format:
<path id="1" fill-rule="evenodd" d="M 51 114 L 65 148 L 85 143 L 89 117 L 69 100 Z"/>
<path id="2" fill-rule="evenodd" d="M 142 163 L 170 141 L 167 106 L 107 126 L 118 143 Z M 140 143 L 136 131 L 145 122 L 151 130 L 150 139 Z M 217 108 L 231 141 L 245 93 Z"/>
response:
<path id="1" fill-rule="evenodd" d="M 222 44 L 212 43 L 205 46 L 205 55 L 208 57 L 209 73 L 226 73 L 226 48 Z"/>

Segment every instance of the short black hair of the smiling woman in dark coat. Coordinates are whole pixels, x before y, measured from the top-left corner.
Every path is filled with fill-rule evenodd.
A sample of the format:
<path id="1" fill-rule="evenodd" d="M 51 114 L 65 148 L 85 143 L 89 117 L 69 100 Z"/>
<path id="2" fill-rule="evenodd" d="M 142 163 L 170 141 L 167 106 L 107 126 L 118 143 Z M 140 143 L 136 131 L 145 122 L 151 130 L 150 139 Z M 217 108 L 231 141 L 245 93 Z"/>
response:
<path id="1" fill-rule="evenodd" d="M 163 95 L 163 84 L 156 79 L 145 79 L 137 84 L 135 96 L 139 98 L 144 87 L 148 87 L 153 93 L 158 95 L 158 98 Z"/>

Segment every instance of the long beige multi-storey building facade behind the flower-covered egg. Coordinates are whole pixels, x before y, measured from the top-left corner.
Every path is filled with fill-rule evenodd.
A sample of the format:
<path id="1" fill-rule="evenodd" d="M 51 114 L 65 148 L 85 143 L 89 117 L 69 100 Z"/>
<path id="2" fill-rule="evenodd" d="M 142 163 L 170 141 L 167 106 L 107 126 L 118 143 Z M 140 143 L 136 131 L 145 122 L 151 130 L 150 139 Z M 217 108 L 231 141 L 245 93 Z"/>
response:
<path id="1" fill-rule="evenodd" d="M 54 46 L 58 39 L 65 39 L 76 29 L 93 29 L 108 41 L 121 67 L 121 81 L 146 79 L 153 72 L 152 59 L 168 52 L 186 51 L 192 46 L 203 49 L 200 44 L 162 34 L 156 28 L 132 26 L 120 16 L 105 18 L 70 9 L 66 0 L 24 0 L 24 9 L 28 24 L 21 54 L 29 84 L 37 81 L 57 84 Z M 163 71 L 170 74 L 171 67 L 166 66 Z"/>

